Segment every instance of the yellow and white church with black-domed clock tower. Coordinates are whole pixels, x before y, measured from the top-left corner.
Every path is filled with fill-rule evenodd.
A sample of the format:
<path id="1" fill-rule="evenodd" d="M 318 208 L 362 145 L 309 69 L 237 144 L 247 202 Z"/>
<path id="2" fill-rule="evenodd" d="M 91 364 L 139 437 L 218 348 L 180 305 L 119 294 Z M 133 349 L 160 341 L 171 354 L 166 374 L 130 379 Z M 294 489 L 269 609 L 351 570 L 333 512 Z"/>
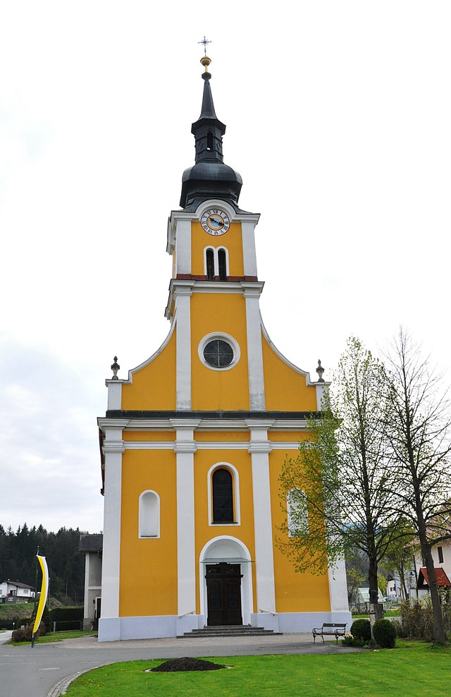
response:
<path id="1" fill-rule="evenodd" d="M 239 206 L 226 126 L 204 72 L 195 163 L 168 219 L 173 259 L 162 346 L 106 380 L 99 418 L 104 540 L 99 641 L 211 626 L 311 631 L 350 622 L 344 561 L 295 572 L 275 544 L 278 477 L 326 383 L 281 355 L 261 320 L 259 214 Z"/>

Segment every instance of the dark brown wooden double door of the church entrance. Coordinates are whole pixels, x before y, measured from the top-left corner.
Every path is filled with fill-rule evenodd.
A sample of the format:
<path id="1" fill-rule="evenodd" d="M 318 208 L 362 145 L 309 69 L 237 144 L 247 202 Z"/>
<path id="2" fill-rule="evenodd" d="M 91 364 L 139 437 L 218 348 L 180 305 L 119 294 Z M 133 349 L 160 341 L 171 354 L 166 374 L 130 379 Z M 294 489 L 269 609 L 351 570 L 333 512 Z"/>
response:
<path id="1" fill-rule="evenodd" d="M 214 564 L 206 567 L 208 626 L 242 624 L 240 564 Z"/>

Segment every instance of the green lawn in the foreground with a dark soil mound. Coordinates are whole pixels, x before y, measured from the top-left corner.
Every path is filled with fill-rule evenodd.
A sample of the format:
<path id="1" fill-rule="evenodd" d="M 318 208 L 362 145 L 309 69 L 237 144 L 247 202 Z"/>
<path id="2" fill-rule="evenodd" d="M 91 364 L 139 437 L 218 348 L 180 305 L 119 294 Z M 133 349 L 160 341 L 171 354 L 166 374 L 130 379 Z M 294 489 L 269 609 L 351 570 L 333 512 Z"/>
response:
<path id="1" fill-rule="evenodd" d="M 207 658 L 231 670 L 146 673 L 161 660 L 115 663 L 81 675 L 68 697 L 449 696 L 451 648 L 399 641 L 400 648 L 335 655 Z"/>

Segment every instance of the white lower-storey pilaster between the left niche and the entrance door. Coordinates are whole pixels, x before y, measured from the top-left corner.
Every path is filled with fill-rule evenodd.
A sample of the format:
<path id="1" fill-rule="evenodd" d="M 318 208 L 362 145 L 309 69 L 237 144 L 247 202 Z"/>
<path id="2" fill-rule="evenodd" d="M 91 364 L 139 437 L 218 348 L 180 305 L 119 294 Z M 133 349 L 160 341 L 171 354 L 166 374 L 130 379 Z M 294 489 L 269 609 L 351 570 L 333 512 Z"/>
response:
<path id="1" fill-rule="evenodd" d="M 176 429 L 178 615 L 196 610 L 194 547 L 194 428 L 199 421 L 171 420 Z"/>

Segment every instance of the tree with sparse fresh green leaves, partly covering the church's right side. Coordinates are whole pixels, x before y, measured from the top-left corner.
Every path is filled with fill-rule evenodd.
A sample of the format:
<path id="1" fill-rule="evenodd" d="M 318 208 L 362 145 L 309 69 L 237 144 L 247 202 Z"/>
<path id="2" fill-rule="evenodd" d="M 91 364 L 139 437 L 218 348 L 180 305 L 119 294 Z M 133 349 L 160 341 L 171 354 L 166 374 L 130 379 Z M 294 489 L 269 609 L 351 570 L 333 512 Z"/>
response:
<path id="1" fill-rule="evenodd" d="M 285 461 L 280 476 L 286 514 L 281 550 L 299 571 L 313 572 L 361 550 L 369 561 L 375 613 L 378 563 L 400 536 L 397 483 L 381 428 L 386 387 L 383 365 L 351 337 L 320 418 L 309 422 L 309 440 L 299 444 L 296 460 Z"/>

